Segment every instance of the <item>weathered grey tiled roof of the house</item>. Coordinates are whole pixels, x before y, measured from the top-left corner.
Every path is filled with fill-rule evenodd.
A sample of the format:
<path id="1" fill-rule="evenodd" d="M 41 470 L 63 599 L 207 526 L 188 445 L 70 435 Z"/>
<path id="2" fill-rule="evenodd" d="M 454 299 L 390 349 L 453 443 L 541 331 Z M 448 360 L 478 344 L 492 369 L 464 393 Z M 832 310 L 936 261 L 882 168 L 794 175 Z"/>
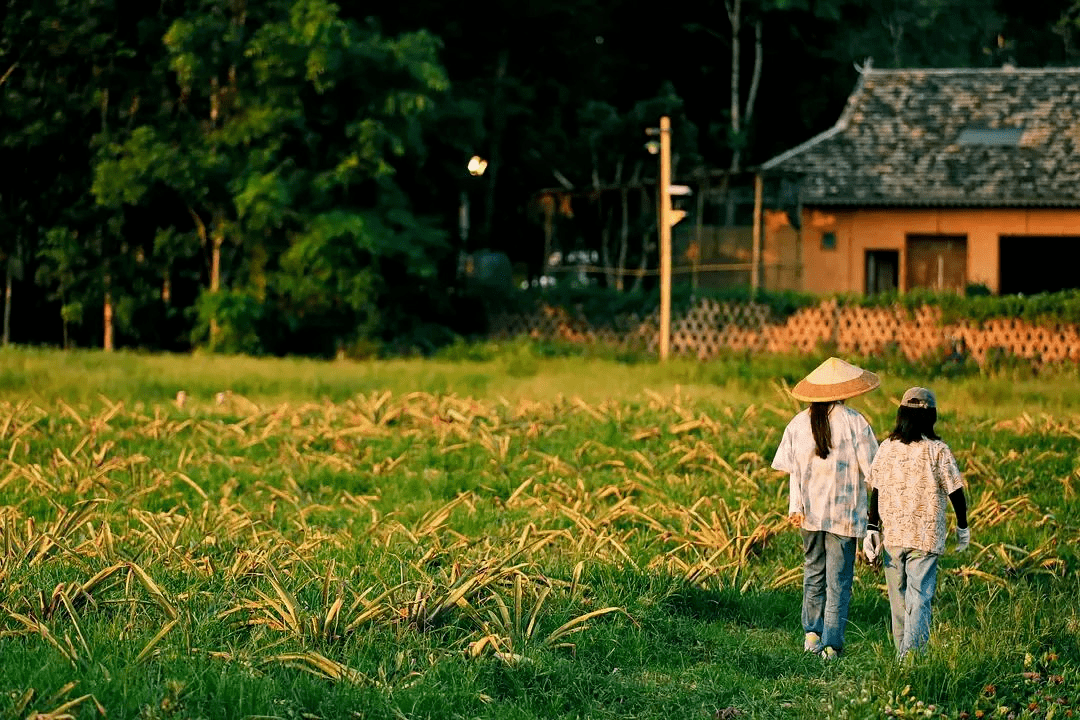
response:
<path id="1" fill-rule="evenodd" d="M 806 205 L 1080 206 L 1080 68 L 865 69 L 760 169 L 802 175 Z"/>

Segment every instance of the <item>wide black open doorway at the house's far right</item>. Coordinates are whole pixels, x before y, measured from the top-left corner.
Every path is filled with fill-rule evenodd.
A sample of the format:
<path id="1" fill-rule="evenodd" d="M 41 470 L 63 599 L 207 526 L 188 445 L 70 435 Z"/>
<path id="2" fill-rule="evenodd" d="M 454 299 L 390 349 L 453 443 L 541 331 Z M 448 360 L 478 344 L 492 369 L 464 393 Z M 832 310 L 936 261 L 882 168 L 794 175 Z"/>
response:
<path id="1" fill-rule="evenodd" d="M 1072 258 L 1080 237 L 1001 235 L 998 249 L 1001 295 L 1035 295 L 1080 287 Z"/>

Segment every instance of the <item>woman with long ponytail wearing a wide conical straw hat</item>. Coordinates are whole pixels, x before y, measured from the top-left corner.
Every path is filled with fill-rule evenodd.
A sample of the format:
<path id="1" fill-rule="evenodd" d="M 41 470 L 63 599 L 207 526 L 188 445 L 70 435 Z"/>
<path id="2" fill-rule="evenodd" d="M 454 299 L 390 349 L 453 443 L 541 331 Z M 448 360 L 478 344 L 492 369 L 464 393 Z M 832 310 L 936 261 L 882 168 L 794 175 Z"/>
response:
<path id="1" fill-rule="evenodd" d="M 787 512 L 802 534 L 804 648 L 825 660 L 843 650 L 859 539 L 866 534 L 866 478 L 878 443 L 843 400 L 880 384 L 829 357 L 791 391 L 810 403 L 787 424 L 772 466 L 788 473 Z"/>

